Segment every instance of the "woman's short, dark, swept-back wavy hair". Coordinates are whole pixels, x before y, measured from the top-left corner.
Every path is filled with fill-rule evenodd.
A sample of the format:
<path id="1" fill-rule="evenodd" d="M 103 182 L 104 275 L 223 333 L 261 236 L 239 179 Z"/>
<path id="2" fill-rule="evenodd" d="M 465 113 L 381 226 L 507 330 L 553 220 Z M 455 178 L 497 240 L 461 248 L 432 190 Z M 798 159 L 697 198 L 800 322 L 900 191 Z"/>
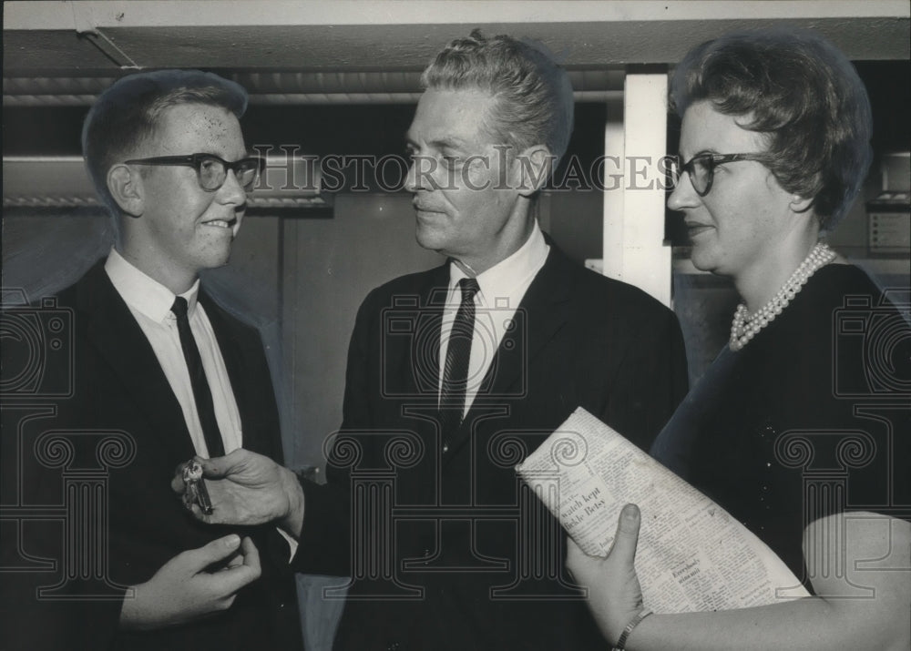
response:
<path id="1" fill-rule="evenodd" d="M 669 104 L 683 117 L 702 100 L 763 134 L 767 167 L 787 192 L 813 200 L 823 229 L 844 217 L 873 158 L 873 120 L 864 84 L 838 48 L 793 28 L 703 43 L 674 71 Z"/>

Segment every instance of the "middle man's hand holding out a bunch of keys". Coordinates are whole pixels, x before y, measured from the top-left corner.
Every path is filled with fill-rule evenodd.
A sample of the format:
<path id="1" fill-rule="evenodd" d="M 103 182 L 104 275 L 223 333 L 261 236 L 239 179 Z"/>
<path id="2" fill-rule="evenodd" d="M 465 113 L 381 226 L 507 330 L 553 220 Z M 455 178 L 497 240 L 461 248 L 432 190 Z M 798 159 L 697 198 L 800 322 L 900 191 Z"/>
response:
<path id="1" fill-rule="evenodd" d="M 274 522 L 294 537 L 303 524 L 303 490 L 287 468 L 269 457 L 238 449 L 223 457 L 197 460 L 212 504 L 212 513 L 204 514 L 197 504 L 189 510 L 208 524 L 266 524 Z M 184 491 L 183 464 L 171 488 Z"/>

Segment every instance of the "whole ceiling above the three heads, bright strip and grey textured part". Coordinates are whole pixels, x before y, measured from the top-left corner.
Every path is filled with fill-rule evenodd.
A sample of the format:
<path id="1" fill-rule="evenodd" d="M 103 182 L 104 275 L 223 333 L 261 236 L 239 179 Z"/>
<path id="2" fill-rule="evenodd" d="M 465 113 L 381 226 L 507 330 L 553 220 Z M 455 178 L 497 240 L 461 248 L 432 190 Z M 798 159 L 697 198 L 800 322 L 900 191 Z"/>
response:
<path id="1" fill-rule="evenodd" d="M 416 76 L 405 77 L 404 86 L 415 86 L 409 88 L 390 73 L 421 70 L 441 46 L 476 26 L 537 38 L 576 71 L 672 65 L 691 46 L 726 31 L 780 24 L 813 27 L 855 59 L 906 60 L 909 15 L 906 0 L 6 2 L 5 94 L 36 78 L 48 95 L 72 93 L 53 80 L 112 77 L 134 67 L 217 68 L 260 77 L 284 72 L 266 84 L 272 92 L 339 73 L 334 83 L 343 91 L 369 77 L 374 92 L 389 79 L 396 92 L 407 92 L 416 90 Z"/>

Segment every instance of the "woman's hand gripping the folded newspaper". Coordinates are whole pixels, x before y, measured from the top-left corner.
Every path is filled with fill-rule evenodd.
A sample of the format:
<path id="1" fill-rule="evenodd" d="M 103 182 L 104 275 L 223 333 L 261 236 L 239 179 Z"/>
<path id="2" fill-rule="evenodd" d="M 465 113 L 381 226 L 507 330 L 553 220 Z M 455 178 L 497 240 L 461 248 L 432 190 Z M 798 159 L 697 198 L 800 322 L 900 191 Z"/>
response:
<path id="1" fill-rule="evenodd" d="M 567 567 L 578 585 L 589 589 L 589 609 L 611 645 L 642 610 L 642 587 L 634 561 L 639 544 L 640 513 L 636 504 L 620 512 L 617 536 L 605 558 L 589 556 L 567 539 Z"/>

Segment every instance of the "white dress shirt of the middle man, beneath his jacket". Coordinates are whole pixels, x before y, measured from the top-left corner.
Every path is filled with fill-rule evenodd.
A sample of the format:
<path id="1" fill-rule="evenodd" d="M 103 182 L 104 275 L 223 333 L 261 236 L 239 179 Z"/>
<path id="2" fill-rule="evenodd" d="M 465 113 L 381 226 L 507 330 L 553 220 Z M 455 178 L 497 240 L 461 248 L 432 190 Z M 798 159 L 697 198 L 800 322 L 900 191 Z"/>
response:
<path id="1" fill-rule="evenodd" d="M 531 235 L 520 249 L 475 277 L 480 290 L 475 295 L 475 332 L 471 340 L 463 416 L 475 402 L 477 390 L 494 360 L 496 349 L 499 348 L 511 320 L 516 316 L 516 310 L 525 297 L 528 286 L 535 280 L 537 272 L 544 267 L 549 251 L 550 247 L 536 221 Z M 462 291 L 458 287 L 458 282 L 467 277 L 466 272 L 458 265 L 453 262 L 449 264 L 449 291 L 446 295 L 443 327 L 440 331 L 440 388 L 443 386 L 446 350 L 449 348 L 455 312 L 462 302 Z"/>

